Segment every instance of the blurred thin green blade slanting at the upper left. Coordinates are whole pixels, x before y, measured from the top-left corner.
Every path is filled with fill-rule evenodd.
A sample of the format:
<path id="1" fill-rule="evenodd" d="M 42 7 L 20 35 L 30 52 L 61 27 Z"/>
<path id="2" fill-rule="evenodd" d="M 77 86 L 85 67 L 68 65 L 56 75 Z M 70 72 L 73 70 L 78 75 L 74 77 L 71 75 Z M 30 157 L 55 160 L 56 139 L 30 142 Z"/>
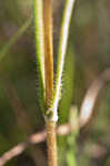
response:
<path id="1" fill-rule="evenodd" d="M 9 42 L 1 49 L 0 51 L 0 61 L 7 55 L 10 48 L 18 41 L 18 39 L 26 32 L 28 27 L 31 23 L 31 19 L 27 20 L 21 28 L 18 30 L 18 32 L 9 40 Z"/>

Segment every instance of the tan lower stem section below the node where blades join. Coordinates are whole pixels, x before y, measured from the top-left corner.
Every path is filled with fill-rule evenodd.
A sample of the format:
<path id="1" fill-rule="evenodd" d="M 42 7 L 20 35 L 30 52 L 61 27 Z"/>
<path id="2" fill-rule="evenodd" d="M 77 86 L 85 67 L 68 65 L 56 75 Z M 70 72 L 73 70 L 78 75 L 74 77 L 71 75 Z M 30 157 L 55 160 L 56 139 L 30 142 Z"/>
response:
<path id="1" fill-rule="evenodd" d="M 56 122 L 47 122 L 48 166 L 58 166 Z"/>

